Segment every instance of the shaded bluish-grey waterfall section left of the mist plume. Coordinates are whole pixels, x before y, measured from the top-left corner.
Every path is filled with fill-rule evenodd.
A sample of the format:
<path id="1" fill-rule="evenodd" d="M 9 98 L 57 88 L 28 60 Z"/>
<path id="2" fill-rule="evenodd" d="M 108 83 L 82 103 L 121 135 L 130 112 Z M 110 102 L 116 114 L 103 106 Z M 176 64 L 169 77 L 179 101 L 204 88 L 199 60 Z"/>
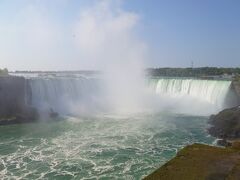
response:
<path id="1" fill-rule="evenodd" d="M 40 111 L 70 113 L 97 104 L 99 80 L 93 78 L 30 78 L 30 104 Z"/>

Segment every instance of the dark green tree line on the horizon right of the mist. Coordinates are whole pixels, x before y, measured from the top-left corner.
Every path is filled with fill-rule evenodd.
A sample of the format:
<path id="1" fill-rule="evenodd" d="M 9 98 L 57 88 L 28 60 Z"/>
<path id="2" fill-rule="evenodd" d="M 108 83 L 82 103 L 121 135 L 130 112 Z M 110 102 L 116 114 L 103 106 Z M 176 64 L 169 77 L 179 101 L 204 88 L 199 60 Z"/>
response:
<path id="1" fill-rule="evenodd" d="M 222 76 L 240 75 L 240 68 L 149 68 L 147 74 L 151 76 L 174 76 L 174 77 L 202 77 L 202 76 Z"/>

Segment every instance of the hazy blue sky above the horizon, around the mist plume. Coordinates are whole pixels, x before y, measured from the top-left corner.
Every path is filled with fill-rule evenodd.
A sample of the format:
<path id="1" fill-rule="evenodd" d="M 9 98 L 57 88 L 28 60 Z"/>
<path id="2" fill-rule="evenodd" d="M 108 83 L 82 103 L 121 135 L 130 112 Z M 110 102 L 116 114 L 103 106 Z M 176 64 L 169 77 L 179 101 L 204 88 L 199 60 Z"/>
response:
<path id="1" fill-rule="evenodd" d="M 126 46 L 129 47 L 130 44 L 138 47 L 143 43 L 144 50 L 138 47 L 133 51 L 140 54 L 146 51 L 147 67 L 188 67 L 191 61 L 194 66 L 240 66 L 238 0 L 103 1 L 111 4 L 108 12 L 98 9 L 99 14 L 105 13 L 104 18 L 98 18 L 99 14 L 94 13 L 89 16 L 97 19 L 94 34 L 98 33 L 98 27 L 101 29 L 101 21 L 110 23 L 105 17 L 109 13 L 111 17 L 115 17 L 115 13 L 129 19 L 136 17 L 131 22 L 125 19 L 122 26 L 126 29 L 120 28 L 115 35 L 128 38 Z M 89 55 L 79 53 L 89 49 L 82 43 L 77 47 L 73 42 L 78 34 L 75 27 L 80 23 L 77 30 L 82 32 L 85 25 L 82 12 L 89 9 L 94 12 L 93 7 L 99 2 L 101 0 L 0 0 L 0 66 L 12 70 L 70 70 L 98 68 L 98 65 L 91 64 L 108 63 L 89 60 Z M 119 12 L 123 13 L 119 15 Z M 102 28 L 101 37 L 108 35 L 107 27 Z M 80 34 L 79 37 L 81 35 L 92 34 Z M 98 36 L 96 38 L 99 39 Z M 112 47 L 106 44 L 122 43 L 118 38 L 107 38 L 103 42 L 100 46 L 105 48 L 101 50 L 96 49 L 95 44 L 88 47 L 92 52 L 99 51 L 101 59 L 114 57 L 108 56 L 106 48 L 115 51 L 117 47 L 111 50 Z M 117 56 L 118 51 L 115 52 Z"/>

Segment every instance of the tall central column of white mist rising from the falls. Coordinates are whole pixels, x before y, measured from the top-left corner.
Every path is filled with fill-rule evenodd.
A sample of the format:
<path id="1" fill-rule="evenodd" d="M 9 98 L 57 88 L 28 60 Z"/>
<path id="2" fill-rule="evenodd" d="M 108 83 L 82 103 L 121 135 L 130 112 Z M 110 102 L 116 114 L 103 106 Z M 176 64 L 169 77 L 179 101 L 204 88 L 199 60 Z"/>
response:
<path id="1" fill-rule="evenodd" d="M 104 72 L 109 106 L 117 112 L 139 111 L 146 53 L 146 45 L 136 33 L 140 17 L 115 2 L 100 1 L 81 12 L 75 40 L 85 65 Z"/>

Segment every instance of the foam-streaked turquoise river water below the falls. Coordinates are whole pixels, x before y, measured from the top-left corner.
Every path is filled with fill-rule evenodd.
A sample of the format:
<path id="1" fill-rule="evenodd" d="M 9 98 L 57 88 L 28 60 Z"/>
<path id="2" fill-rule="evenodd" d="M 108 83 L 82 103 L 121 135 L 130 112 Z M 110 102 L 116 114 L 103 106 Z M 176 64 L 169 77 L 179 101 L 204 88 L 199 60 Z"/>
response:
<path id="1" fill-rule="evenodd" d="M 141 179 L 193 142 L 207 118 L 168 113 L 66 117 L 0 127 L 0 179 Z"/>

